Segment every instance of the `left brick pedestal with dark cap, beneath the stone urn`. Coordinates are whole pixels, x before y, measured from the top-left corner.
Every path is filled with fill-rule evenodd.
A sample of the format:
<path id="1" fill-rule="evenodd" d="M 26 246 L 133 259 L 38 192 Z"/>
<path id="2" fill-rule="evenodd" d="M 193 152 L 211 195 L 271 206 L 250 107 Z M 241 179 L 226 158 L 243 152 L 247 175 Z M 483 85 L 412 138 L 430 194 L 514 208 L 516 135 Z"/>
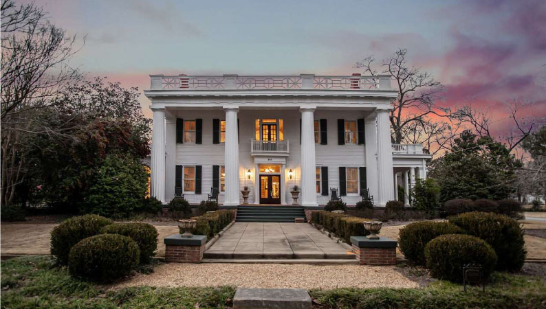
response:
<path id="1" fill-rule="evenodd" d="M 165 260 L 173 263 L 199 263 L 205 253 L 206 236 L 194 235 L 184 238 L 173 234 L 164 239 Z"/>

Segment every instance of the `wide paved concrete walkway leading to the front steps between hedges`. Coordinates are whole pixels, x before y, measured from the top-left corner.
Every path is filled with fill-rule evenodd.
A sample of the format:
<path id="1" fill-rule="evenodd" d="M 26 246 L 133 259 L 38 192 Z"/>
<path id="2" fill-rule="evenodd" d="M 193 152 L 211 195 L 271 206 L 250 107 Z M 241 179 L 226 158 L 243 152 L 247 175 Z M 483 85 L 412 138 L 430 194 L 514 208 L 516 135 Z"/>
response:
<path id="1" fill-rule="evenodd" d="M 354 259 L 354 255 L 304 223 L 235 222 L 205 258 Z"/>

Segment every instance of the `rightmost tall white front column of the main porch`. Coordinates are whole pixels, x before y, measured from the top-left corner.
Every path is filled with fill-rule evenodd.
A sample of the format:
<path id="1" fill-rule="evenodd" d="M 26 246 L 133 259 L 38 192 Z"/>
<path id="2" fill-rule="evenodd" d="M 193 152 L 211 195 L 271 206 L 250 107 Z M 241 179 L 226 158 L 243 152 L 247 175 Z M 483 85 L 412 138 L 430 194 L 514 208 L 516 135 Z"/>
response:
<path id="1" fill-rule="evenodd" d="M 378 109 L 378 185 L 379 205 L 393 200 L 393 150 L 391 148 L 391 125 L 389 110 Z"/>

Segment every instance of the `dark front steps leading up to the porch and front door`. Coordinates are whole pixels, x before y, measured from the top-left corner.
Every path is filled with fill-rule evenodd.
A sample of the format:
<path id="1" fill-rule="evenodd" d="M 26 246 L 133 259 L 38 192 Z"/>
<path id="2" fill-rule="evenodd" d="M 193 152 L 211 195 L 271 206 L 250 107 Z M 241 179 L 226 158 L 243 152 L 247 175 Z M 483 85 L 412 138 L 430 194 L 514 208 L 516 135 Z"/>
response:
<path id="1" fill-rule="evenodd" d="M 304 218 L 305 211 L 301 206 L 238 206 L 237 222 L 295 222 Z"/>

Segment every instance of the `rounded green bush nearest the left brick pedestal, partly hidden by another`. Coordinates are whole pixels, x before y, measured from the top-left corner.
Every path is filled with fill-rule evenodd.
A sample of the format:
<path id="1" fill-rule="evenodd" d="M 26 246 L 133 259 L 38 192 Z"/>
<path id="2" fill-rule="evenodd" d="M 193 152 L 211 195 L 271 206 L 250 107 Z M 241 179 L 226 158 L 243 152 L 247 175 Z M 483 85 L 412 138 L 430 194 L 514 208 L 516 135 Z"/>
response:
<path id="1" fill-rule="evenodd" d="M 119 234 L 127 236 L 138 244 L 140 250 L 140 262 L 148 263 L 157 249 L 157 229 L 149 223 L 131 222 L 114 223 L 102 227 L 102 233 Z"/>

